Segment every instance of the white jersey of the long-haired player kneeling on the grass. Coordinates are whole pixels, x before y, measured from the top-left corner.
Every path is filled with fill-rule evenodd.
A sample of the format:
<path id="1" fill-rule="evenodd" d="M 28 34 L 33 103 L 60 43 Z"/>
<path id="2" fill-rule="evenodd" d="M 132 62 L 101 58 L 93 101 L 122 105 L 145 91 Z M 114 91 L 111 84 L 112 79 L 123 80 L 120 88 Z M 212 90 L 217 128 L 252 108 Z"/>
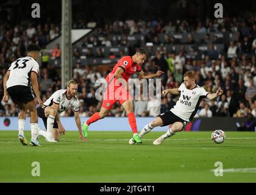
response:
<path id="1" fill-rule="evenodd" d="M 51 106 L 53 102 L 59 104 L 58 113 L 62 113 L 65 110 L 68 110 L 69 107 L 73 107 L 74 112 L 79 111 L 79 100 L 76 96 L 71 99 L 66 98 L 67 90 L 58 90 L 55 91 L 50 98 L 43 103 L 43 107 Z"/>

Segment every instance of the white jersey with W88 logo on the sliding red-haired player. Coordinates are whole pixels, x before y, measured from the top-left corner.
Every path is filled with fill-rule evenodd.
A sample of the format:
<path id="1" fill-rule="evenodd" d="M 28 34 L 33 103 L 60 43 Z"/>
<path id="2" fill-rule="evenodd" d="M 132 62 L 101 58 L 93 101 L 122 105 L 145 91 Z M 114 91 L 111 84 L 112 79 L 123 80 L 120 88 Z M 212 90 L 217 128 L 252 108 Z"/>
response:
<path id="1" fill-rule="evenodd" d="M 201 99 L 206 98 L 208 92 L 198 85 L 196 85 L 195 88 L 188 90 L 184 83 L 180 85 L 179 91 L 180 98 L 176 102 L 176 105 L 171 108 L 171 112 L 184 121 L 191 121 L 194 115 L 196 115 Z"/>

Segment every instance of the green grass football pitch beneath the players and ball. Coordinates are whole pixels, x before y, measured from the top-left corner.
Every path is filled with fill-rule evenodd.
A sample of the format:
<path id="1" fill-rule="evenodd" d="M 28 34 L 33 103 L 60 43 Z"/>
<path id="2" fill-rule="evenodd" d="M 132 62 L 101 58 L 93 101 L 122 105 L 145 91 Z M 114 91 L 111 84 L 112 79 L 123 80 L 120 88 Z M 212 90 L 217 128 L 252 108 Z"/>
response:
<path id="1" fill-rule="evenodd" d="M 89 132 L 88 143 L 66 132 L 59 143 L 40 138 L 42 146 L 32 147 L 21 145 L 17 131 L 1 131 L 0 182 L 256 182 L 255 132 L 226 132 L 222 144 L 210 140 L 212 132 L 180 132 L 154 146 L 163 133 L 129 145 L 131 132 Z M 31 174 L 33 161 L 39 177 Z M 214 174 L 216 161 L 223 176 Z"/>

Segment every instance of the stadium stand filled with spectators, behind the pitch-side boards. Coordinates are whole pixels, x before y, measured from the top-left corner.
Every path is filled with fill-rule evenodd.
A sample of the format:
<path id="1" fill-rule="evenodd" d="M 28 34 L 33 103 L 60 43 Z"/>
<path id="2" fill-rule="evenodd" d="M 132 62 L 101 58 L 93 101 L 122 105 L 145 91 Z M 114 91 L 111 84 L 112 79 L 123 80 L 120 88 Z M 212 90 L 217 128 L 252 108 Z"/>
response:
<path id="1" fill-rule="evenodd" d="M 79 26 L 79 24 L 76 24 Z M 29 43 L 43 48 L 38 82 L 41 98 L 45 101 L 52 92 L 61 88 L 61 52 L 48 51 L 47 44 L 60 35 L 60 24 L 0 23 L 0 97 L 3 96 L 2 78 L 10 63 L 26 54 Z M 256 116 L 256 16 L 243 18 L 206 19 L 196 24 L 161 19 L 112 21 L 96 28 L 73 45 L 74 79 L 79 82 L 81 116 L 91 116 L 99 111 L 101 101 L 95 98 L 96 79 L 105 77 L 110 68 L 124 55 L 132 55 L 144 46 L 150 58 L 144 71 L 165 71 L 162 89 L 179 86 L 187 70 L 197 74 L 197 84 L 208 91 L 222 87 L 225 94 L 216 101 L 202 101 L 196 116 L 243 117 Z M 136 76 L 135 76 L 136 77 Z M 165 112 L 177 101 L 168 94 L 162 98 L 161 107 L 151 112 L 150 102 L 135 101 L 137 116 L 155 116 Z M 9 101 L 0 104 L 0 116 L 18 116 L 18 108 Z M 144 105 L 141 107 L 141 105 Z M 138 109 L 138 107 L 140 109 Z M 143 109 L 142 109 L 143 108 Z M 154 114 L 152 114 L 154 113 Z M 210 113 L 210 114 L 208 114 Z M 63 116 L 71 116 L 65 112 Z M 109 116 L 125 116 L 115 105 Z"/>

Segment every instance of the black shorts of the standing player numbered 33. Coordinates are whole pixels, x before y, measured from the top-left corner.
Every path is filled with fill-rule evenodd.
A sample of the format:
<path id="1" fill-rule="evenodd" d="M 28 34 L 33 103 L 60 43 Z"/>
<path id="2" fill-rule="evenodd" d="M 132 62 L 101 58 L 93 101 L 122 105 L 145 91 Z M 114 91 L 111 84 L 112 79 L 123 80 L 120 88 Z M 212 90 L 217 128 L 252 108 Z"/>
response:
<path id="1" fill-rule="evenodd" d="M 27 104 L 27 102 L 31 102 L 35 99 L 32 87 L 15 85 L 7 88 L 7 92 L 15 104 Z"/>

